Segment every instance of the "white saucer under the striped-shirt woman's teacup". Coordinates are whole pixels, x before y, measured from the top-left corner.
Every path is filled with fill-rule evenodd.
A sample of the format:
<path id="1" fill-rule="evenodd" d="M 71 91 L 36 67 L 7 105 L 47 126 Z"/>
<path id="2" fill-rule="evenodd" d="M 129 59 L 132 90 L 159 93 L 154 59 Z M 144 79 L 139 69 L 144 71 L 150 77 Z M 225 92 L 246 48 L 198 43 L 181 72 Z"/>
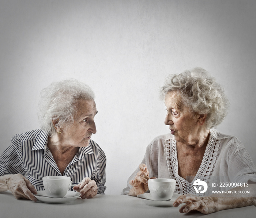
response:
<path id="1" fill-rule="evenodd" d="M 67 194 L 64 196 L 64 198 L 51 198 L 48 197 L 45 193 L 45 191 L 37 191 L 38 195 L 35 195 L 35 197 L 44 203 L 50 203 L 50 204 L 63 204 L 71 202 L 75 199 L 77 199 L 80 196 L 79 192 L 74 191 L 68 191 Z"/>

